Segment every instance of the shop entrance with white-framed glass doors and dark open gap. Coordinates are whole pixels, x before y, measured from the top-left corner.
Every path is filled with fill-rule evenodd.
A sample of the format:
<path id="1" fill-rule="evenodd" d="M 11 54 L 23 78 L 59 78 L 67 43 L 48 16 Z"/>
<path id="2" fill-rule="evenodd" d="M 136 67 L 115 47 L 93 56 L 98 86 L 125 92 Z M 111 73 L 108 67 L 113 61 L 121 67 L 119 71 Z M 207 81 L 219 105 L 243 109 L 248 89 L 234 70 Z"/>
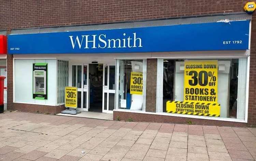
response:
<path id="1" fill-rule="evenodd" d="M 71 64 L 72 87 L 77 87 L 81 111 L 113 113 L 115 104 L 114 64 Z"/>

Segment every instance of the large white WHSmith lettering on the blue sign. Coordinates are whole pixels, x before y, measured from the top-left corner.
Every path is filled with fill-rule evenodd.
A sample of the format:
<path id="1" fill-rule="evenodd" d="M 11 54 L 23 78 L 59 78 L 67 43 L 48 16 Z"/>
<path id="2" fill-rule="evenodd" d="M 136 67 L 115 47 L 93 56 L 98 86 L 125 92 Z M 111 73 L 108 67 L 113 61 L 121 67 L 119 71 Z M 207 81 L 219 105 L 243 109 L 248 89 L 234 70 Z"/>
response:
<path id="1" fill-rule="evenodd" d="M 132 34 L 132 36 L 125 37 L 126 33 L 123 33 L 123 39 L 107 39 L 106 34 L 81 35 L 76 36 L 76 38 L 73 38 L 74 36 L 69 36 L 69 38 L 73 49 L 76 46 L 79 47 L 79 49 L 81 49 L 81 47 L 84 49 L 142 47 L 142 39 L 136 37 L 136 32 Z M 98 44 L 96 45 L 96 43 Z"/>

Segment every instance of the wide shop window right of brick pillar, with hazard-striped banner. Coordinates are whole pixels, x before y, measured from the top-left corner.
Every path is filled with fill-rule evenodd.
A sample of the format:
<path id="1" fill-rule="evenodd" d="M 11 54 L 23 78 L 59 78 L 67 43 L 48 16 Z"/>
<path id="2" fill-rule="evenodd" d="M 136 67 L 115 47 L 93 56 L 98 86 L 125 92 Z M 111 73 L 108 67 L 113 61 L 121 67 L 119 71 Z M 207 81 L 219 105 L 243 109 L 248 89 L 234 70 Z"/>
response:
<path id="1" fill-rule="evenodd" d="M 157 112 L 245 118 L 247 58 L 159 59 Z"/>

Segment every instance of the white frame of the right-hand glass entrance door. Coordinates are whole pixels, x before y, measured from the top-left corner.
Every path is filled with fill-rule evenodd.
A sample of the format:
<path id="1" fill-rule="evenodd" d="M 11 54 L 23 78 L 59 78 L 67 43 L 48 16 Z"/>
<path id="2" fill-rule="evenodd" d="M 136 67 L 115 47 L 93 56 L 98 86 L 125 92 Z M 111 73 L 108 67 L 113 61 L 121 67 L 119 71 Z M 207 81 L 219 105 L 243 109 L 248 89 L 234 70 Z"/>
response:
<path id="1" fill-rule="evenodd" d="M 108 71 L 105 71 L 105 66 L 108 67 Z M 103 113 L 111 113 L 113 114 L 113 111 L 109 111 L 109 93 L 114 93 L 115 94 L 115 89 L 109 89 L 109 66 L 115 66 L 115 64 L 110 63 L 110 64 L 103 64 L 103 89 L 102 89 L 102 112 Z M 107 85 L 105 86 L 105 72 L 107 72 Z M 105 93 L 107 93 L 107 105 L 106 105 L 106 110 L 104 109 L 104 103 L 105 103 Z"/>

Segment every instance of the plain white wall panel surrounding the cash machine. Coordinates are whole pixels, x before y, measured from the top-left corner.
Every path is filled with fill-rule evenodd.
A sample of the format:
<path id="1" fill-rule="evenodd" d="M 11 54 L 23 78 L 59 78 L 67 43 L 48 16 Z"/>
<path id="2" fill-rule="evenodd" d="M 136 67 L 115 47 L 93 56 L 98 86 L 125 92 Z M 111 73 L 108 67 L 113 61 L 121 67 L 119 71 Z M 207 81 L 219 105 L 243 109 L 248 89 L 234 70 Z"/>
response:
<path id="1" fill-rule="evenodd" d="M 47 100 L 33 99 L 33 63 L 47 63 Z M 14 102 L 56 105 L 56 59 L 14 59 Z"/>

